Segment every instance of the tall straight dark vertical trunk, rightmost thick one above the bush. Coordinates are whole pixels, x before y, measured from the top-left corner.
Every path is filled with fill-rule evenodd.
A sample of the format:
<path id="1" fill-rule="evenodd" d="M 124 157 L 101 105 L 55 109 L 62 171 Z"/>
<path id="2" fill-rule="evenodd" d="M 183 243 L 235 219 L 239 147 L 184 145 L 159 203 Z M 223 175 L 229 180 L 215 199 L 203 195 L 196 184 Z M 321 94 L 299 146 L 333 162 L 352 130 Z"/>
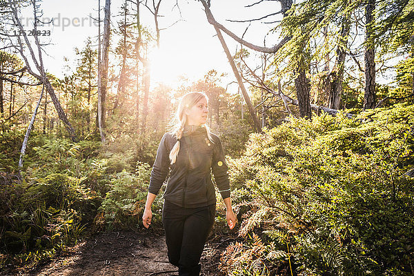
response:
<path id="1" fill-rule="evenodd" d="M 375 0 L 368 0 L 365 8 L 366 39 L 365 39 L 365 94 L 364 109 L 375 108 L 375 46 L 373 37 L 373 11 Z"/>

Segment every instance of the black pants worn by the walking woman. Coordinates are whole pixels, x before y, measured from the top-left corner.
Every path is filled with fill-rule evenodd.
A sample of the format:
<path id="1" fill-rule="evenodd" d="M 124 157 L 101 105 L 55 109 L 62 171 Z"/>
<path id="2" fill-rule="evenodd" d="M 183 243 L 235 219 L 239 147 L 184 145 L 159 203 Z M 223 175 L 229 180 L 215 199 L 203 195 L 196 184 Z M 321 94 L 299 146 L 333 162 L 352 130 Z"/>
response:
<path id="1" fill-rule="evenodd" d="M 168 260 L 178 266 L 180 276 L 199 276 L 204 244 L 213 227 L 215 204 L 182 208 L 164 202 L 162 222 L 166 232 Z"/>

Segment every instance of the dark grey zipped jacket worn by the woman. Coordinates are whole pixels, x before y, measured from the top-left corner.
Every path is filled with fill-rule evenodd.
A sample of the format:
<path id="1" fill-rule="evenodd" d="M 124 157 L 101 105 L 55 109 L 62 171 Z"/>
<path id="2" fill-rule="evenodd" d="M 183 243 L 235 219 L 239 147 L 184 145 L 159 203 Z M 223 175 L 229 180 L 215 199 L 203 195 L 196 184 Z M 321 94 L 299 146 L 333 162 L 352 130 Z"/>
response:
<path id="1" fill-rule="evenodd" d="M 204 126 L 186 128 L 179 141 L 180 148 L 175 164 L 170 165 L 170 150 L 177 137 L 167 132 L 161 139 L 150 177 L 148 192 L 157 195 L 168 172 L 164 199 L 181 207 L 193 208 L 215 204 L 215 188 L 211 171 L 221 197 L 230 197 L 230 184 L 223 147 L 217 135 L 207 137 Z"/>

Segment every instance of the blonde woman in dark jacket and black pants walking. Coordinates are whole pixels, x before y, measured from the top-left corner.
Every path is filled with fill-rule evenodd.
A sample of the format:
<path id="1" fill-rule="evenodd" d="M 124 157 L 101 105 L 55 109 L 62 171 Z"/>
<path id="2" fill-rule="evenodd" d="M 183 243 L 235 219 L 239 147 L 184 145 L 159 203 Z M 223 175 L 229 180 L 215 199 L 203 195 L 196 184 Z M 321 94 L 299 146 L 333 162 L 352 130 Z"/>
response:
<path id="1" fill-rule="evenodd" d="M 215 188 L 226 205 L 230 229 L 236 224 L 230 201 L 230 184 L 221 141 L 206 125 L 208 97 L 190 92 L 181 98 L 175 125 L 159 143 L 150 177 L 142 222 L 151 224 L 151 206 L 168 172 L 162 222 L 168 260 L 180 276 L 199 276 L 201 253 L 215 219 Z"/>

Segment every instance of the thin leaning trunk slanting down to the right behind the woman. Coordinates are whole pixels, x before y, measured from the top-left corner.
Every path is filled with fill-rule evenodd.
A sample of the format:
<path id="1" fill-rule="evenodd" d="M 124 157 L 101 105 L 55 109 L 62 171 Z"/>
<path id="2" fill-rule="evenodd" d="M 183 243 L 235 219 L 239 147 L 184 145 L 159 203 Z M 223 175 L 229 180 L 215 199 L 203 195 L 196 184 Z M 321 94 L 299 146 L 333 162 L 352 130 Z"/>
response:
<path id="1" fill-rule="evenodd" d="M 224 52 L 226 52 L 228 62 L 230 63 L 231 68 L 233 69 L 233 73 L 235 74 L 235 77 L 237 79 L 237 83 L 239 83 L 239 87 L 242 90 L 244 101 L 246 101 L 248 111 L 250 112 L 250 116 L 253 119 L 253 127 L 256 129 L 256 132 L 262 132 L 262 126 L 260 125 L 260 121 L 257 118 L 256 110 L 253 107 L 252 102 L 250 101 L 250 97 L 247 94 L 246 88 L 244 87 L 242 77 L 240 77 L 239 71 L 237 71 L 235 61 L 234 61 L 233 57 L 230 55 L 230 51 L 227 48 L 226 41 L 224 41 L 224 38 L 223 38 L 223 36 L 221 35 L 221 32 L 220 32 L 220 29 L 217 28 L 216 26 L 214 26 L 214 28 L 217 32 L 217 37 L 220 40 L 221 46 L 223 47 Z"/>

